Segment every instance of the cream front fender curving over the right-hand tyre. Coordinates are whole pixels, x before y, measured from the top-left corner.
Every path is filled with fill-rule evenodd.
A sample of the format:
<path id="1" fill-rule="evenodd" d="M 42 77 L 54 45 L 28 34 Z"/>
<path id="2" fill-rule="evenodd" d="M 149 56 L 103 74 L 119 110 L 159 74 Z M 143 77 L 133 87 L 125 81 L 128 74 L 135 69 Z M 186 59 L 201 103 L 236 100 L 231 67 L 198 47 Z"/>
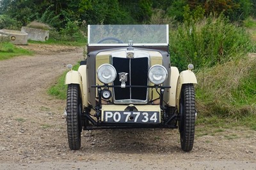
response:
<path id="1" fill-rule="evenodd" d="M 196 75 L 191 70 L 184 70 L 180 72 L 179 79 L 177 82 L 176 89 L 176 105 L 179 111 L 179 101 L 180 101 L 180 92 L 182 88 L 182 84 L 197 84 Z"/>

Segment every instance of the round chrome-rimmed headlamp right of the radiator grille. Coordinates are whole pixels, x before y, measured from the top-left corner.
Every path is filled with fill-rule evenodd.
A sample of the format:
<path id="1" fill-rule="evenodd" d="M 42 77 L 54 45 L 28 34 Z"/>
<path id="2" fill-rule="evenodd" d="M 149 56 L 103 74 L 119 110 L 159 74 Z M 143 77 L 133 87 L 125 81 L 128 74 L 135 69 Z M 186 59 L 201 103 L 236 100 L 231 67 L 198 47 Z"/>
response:
<path id="1" fill-rule="evenodd" d="M 160 78 L 159 80 L 156 80 L 156 79 L 154 80 L 154 77 L 152 77 L 152 76 L 154 76 L 154 73 L 152 73 L 153 72 L 152 70 L 156 67 L 161 68 L 161 72 L 162 72 L 162 76 L 163 76 L 163 78 Z M 162 65 L 153 65 L 148 70 L 148 79 L 150 82 L 152 82 L 155 85 L 163 84 L 163 82 L 167 79 L 167 77 L 168 77 L 168 72 L 167 72 L 166 68 Z"/>

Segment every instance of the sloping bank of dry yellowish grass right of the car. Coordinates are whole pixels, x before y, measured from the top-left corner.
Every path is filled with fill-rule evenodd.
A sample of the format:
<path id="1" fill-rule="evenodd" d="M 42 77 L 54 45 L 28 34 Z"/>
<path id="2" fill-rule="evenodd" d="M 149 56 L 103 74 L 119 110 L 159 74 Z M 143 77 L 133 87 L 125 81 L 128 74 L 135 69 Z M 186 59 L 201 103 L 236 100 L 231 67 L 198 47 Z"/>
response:
<path id="1" fill-rule="evenodd" d="M 256 114 L 255 68 L 256 58 L 250 57 L 197 72 L 198 111 L 205 115 L 234 118 Z"/>

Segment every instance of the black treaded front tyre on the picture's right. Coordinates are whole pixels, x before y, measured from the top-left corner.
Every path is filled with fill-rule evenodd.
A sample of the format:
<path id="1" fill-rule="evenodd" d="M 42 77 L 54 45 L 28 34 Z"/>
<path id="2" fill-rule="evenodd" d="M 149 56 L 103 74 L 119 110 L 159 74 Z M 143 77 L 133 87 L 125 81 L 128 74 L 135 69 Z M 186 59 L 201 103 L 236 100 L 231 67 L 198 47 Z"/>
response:
<path id="1" fill-rule="evenodd" d="M 182 85 L 180 93 L 180 145 L 182 150 L 191 151 L 195 138 L 195 89 L 193 84 Z"/>

